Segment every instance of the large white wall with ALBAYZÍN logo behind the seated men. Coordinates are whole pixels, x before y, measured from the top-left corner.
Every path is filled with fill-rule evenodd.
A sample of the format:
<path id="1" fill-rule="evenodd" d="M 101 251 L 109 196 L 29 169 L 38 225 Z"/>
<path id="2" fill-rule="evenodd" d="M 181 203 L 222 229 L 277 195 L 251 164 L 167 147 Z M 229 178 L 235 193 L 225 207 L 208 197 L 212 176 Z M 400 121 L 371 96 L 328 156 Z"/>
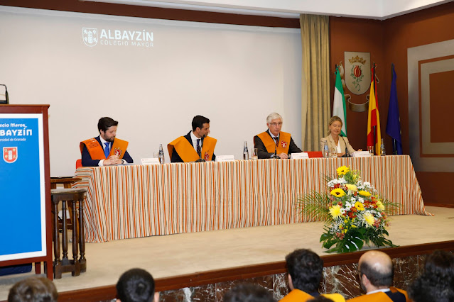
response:
<path id="1" fill-rule="evenodd" d="M 153 47 L 89 47 L 82 28 L 146 30 Z M 136 163 L 188 133 L 197 114 L 211 120 L 217 155 L 241 158 L 272 111 L 301 146 L 299 30 L 0 6 L 0 41 L 10 103 L 50 104 L 51 176 L 74 174 L 79 142 L 98 135 L 102 116 L 119 121 Z"/>

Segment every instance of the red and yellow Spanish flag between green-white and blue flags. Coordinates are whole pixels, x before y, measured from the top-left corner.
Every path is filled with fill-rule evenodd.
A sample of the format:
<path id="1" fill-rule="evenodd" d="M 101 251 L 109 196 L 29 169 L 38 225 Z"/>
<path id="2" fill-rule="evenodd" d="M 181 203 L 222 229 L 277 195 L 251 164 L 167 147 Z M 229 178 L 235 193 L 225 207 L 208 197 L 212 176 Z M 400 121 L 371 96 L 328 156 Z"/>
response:
<path id="1" fill-rule="evenodd" d="M 369 115 L 367 118 L 367 145 L 374 146 L 375 154 L 380 155 L 380 115 L 378 111 L 377 84 L 375 83 L 375 64 L 372 67 L 372 82 L 369 94 Z"/>

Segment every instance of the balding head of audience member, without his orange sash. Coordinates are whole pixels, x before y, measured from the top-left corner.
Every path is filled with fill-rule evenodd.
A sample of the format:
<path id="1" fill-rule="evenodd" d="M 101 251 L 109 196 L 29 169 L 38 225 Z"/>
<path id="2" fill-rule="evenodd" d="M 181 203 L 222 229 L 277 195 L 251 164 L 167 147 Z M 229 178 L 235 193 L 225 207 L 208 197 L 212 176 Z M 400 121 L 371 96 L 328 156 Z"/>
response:
<path id="1" fill-rule="evenodd" d="M 387 289 L 392 285 L 394 267 L 391 258 L 384 252 L 365 252 L 358 263 L 360 283 L 364 291 Z"/>

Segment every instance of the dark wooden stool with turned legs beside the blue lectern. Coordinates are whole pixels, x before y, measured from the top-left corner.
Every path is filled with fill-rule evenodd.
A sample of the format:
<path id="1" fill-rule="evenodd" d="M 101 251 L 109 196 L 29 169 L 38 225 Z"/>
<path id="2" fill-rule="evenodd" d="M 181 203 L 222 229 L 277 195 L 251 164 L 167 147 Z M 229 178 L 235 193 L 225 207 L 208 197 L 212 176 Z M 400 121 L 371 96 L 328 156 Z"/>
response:
<path id="1" fill-rule="evenodd" d="M 85 259 L 85 235 L 84 235 L 84 201 L 87 191 L 85 189 L 52 189 L 53 209 L 53 274 L 55 279 L 60 279 L 62 273 L 71 272 L 72 276 L 79 276 L 80 272 L 87 271 L 87 259 Z M 60 260 L 60 233 L 58 232 L 58 203 L 62 201 L 62 250 L 63 258 Z M 77 218 L 77 201 L 79 202 L 79 216 Z M 72 206 L 72 260 L 67 257 L 67 202 Z M 77 252 L 80 250 L 80 257 Z"/>

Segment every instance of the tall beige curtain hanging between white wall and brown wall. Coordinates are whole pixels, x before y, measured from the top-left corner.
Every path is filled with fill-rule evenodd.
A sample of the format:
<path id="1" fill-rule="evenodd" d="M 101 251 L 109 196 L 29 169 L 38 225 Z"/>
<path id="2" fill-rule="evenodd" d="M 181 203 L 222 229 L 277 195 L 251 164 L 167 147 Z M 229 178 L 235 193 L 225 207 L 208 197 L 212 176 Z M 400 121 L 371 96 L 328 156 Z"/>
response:
<path id="1" fill-rule="evenodd" d="M 301 45 L 301 133 L 307 151 L 320 150 L 320 138 L 328 133 L 330 105 L 329 17 L 300 16 Z"/>

